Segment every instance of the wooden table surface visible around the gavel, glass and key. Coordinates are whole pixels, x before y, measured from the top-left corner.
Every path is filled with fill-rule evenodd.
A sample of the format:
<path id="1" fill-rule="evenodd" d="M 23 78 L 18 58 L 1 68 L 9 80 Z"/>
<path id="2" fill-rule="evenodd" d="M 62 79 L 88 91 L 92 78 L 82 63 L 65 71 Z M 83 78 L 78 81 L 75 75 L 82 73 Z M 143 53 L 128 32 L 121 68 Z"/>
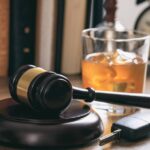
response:
<path id="1" fill-rule="evenodd" d="M 73 85 L 76 85 L 76 86 L 81 85 L 80 77 L 71 76 L 69 78 L 71 79 Z M 148 79 L 146 82 L 145 92 L 150 93 L 150 79 Z M 8 97 L 10 97 L 10 94 L 8 91 L 7 79 L 0 78 L 0 100 L 8 98 Z M 141 109 L 140 111 L 150 112 L 150 110 L 146 110 L 146 109 Z M 120 117 L 110 116 L 105 110 L 97 109 L 97 112 L 103 121 L 104 129 L 105 129 L 104 135 L 106 135 L 110 133 L 110 128 L 111 128 L 112 123 L 118 120 Z M 98 141 L 97 141 L 95 143 L 83 146 L 82 148 L 71 148 L 70 150 L 148 150 L 148 149 L 150 149 L 150 138 L 146 138 L 139 142 L 126 142 L 126 141 L 121 140 L 117 143 L 106 144 L 105 146 L 102 146 L 102 147 L 98 145 Z M 21 150 L 21 149 L 0 146 L 0 150 Z"/>

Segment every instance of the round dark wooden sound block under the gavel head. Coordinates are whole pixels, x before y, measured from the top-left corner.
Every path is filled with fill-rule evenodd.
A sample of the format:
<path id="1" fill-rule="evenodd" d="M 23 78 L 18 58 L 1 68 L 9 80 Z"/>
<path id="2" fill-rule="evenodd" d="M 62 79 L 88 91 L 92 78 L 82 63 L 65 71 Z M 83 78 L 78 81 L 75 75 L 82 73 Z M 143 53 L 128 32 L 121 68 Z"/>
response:
<path id="1" fill-rule="evenodd" d="M 73 147 L 92 142 L 103 132 L 97 113 L 78 100 L 59 117 L 9 101 L 0 102 L 0 142 L 9 146 Z"/>

